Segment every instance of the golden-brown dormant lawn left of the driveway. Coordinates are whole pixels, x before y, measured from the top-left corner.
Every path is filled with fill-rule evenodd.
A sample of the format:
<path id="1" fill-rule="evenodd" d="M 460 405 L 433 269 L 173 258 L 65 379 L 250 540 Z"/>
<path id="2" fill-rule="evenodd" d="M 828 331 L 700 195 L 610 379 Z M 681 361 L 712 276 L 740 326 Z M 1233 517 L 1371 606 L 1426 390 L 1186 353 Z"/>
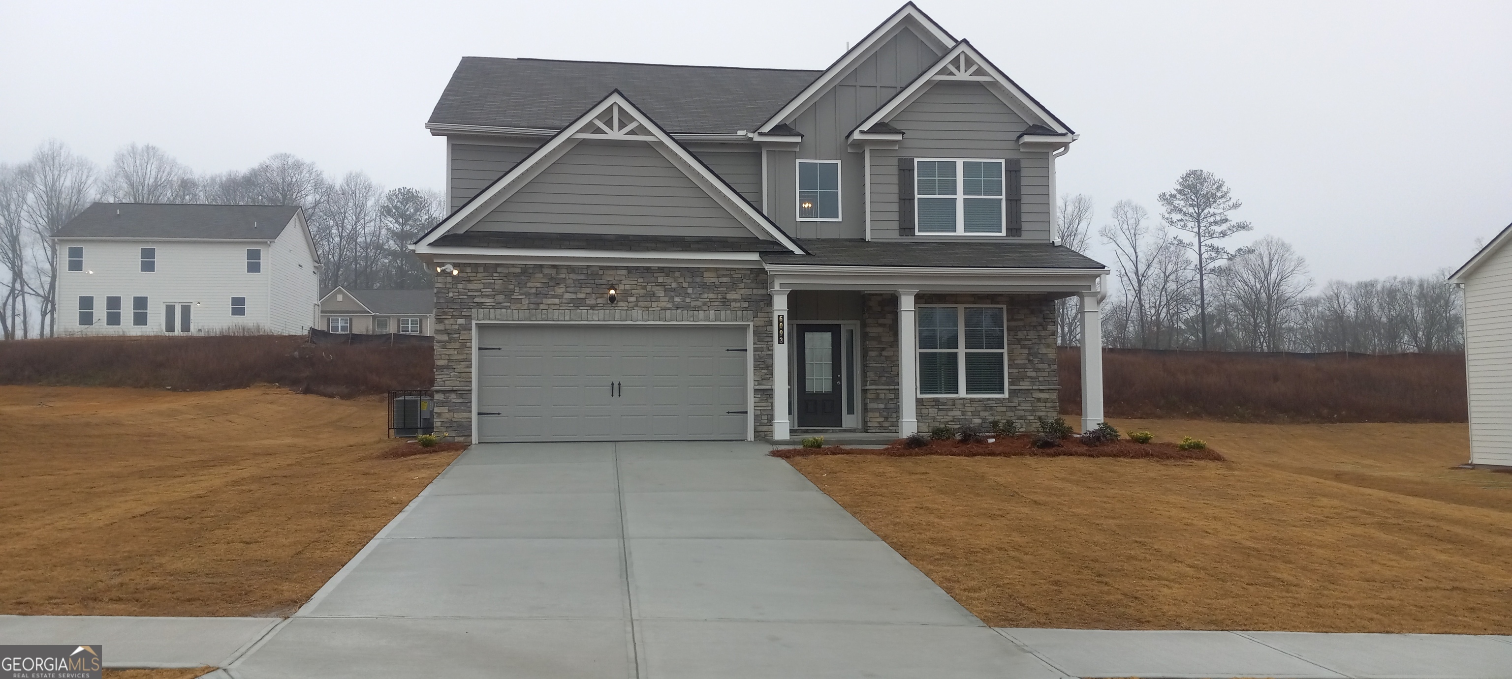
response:
<path id="1" fill-rule="evenodd" d="M 380 397 L 0 386 L 0 614 L 289 614 L 454 459 Z"/>

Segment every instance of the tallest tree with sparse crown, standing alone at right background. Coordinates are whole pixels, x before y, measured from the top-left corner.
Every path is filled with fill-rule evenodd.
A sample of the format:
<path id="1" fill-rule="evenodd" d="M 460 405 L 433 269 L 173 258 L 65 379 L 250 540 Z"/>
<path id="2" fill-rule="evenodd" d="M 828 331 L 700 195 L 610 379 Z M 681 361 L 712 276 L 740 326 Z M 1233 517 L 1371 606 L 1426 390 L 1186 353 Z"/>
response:
<path id="1" fill-rule="evenodd" d="M 1228 213 L 1243 204 L 1232 198 L 1228 184 L 1208 171 L 1187 171 L 1176 180 L 1176 187 L 1158 196 L 1164 208 L 1161 219 L 1170 228 L 1191 234 L 1191 240 L 1173 241 L 1191 250 L 1198 258 L 1198 315 L 1201 318 L 1201 346 L 1208 349 L 1208 293 L 1207 276 L 1219 263 L 1234 257 L 1219 241 L 1241 231 L 1249 231 L 1249 222 L 1234 222 Z"/>

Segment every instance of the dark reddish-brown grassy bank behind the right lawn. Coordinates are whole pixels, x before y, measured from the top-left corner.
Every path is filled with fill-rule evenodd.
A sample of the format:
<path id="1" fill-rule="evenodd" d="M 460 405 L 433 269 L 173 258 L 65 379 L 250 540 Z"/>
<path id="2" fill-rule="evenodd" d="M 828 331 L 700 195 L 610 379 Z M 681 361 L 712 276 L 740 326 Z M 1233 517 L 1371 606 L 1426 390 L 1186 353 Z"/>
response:
<path id="1" fill-rule="evenodd" d="M 1081 355 L 1060 350 L 1060 407 L 1081 412 Z M 1241 422 L 1464 422 L 1465 358 L 1445 353 L 1102 356 L 1104 407 L 1120 418 Z"/>

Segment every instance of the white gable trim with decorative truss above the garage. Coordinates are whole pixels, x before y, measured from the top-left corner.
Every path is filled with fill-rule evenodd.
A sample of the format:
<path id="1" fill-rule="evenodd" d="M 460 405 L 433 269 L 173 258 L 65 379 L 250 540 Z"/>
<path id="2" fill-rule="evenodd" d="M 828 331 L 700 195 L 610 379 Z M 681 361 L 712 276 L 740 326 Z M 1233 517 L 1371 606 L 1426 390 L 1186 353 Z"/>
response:
<path id="1" fill-rule="evenodd" d="M 482 253 L 479 247 L 448 247 L 437 246 L 435 241 L 449 234 L 460 234 L 488 213 L 496 210 L 510 196 L 516 195 L 531 180 L 535 180 L 552 163 L 561 160 L 579 143 L 646 143 L 667 158 L 689 181 L 702 189 L 711 199 L 724 208 L 735 220 L 750 229 L 751 235 L 780 243 L 794 253 L 804 253 L 788 234 L 785 234 L 765 214 L 750 205 L 739 192 L 729 186 L 720 175 L 694 157 L 680 142 L 656 125 L 644 112 L 635 107 L 620 91 L 609 92 L 602 101 L 588 109 L 576 121 L 564 127 L 546 143 L 520 160 L 510 172 L 485 187 L 442 223 L 422 235 L 413 246 L 422 258 L 434 255 L 466 255 Z M 463 252 L 467 250 L 467 252 Z M 460 260 L 458 260 L 460 261 Z"/>

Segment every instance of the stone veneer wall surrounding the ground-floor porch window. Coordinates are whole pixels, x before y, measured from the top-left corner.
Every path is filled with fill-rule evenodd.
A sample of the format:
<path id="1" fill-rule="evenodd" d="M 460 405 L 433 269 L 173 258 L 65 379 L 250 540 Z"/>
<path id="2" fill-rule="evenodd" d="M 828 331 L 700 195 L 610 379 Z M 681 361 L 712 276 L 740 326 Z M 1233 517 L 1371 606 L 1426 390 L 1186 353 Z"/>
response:
<path id="1" fill-rule="evenodd" d="M 915 305 L 1007 306 L 1007 382 L 1004 398 L 919 397 L 919 430 L 947 424 L 1016 419 L 1019 426 L 1060 412 L 1055 352 L 1055 302 L 1043 294 L 918 294 Z M 866 430 L 898 429 L 898 297 L 866 294 Z M 891 389 L 891 391 L 889 391 Z"/>

